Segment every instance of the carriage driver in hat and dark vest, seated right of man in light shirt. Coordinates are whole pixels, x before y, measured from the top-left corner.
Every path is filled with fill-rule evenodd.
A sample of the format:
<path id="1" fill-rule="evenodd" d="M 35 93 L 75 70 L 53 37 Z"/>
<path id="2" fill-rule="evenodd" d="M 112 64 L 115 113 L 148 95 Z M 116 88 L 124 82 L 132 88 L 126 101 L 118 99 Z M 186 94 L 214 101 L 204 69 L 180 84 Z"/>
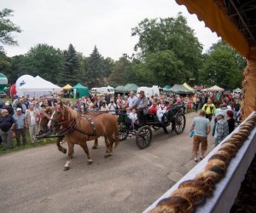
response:
<path id="1" fill-rule="evenodd" d="M 138 118 L 139 124 L 142 124 L 144 115 L 146 115 L 149 111 L 148 99 L 145 96 L 145 92 L 143 90 L 141 90 L 138 94 L 140 96 L 137 99 L 137 102 L 131 107 L 131 109 L 137 108 L 137 118 Z"/>

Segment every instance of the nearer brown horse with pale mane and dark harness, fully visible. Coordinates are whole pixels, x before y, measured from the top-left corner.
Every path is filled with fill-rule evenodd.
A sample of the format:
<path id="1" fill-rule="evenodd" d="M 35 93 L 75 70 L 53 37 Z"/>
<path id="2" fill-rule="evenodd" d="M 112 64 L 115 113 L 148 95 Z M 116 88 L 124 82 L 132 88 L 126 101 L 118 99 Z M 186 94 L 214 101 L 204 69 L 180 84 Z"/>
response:
<path id="1" fill-rule="evenodd" d="M 107 146 L 105 157 L 113 154 L 113 143 L 117 147 L 119 142 L 119 130 L 117 118 L 108 113 L 98 113 L 93 116 L 79 116 L 79 114 L 71 107 L 63 106 L 62 103 L 58 109 L 55 110 L 51 117 L 51 127 L 55 132 L 60 128 L 65 130 L 65 136 L 67 138 L 68 156 L 67 163 L 64 170 L 68 170 L 74 144 L 79 144 L 84 149 L 88 158 L 88 164 L 92 163 L 90 153 L 87 147 L 86 141 L 96 140 L 97 138 L 104 136 Z M 107 143 L 109 141 L 109 143 Z"/>

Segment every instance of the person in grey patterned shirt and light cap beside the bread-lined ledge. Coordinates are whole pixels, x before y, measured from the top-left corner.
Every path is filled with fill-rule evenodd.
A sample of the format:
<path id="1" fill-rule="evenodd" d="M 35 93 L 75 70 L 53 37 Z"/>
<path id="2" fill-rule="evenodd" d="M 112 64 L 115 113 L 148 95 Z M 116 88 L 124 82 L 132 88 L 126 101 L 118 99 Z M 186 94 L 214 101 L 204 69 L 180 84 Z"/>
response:
<path id="1" fill-rule="evenodd" d="M 214 133 L 214 141 L 215 147 L 224 140 L 224 138 L 229 135 L 229 124 L 224 119 L 224 112 L 218 112 L 217 115 L 217 124 L 215 126 L 215 133 Z"/>

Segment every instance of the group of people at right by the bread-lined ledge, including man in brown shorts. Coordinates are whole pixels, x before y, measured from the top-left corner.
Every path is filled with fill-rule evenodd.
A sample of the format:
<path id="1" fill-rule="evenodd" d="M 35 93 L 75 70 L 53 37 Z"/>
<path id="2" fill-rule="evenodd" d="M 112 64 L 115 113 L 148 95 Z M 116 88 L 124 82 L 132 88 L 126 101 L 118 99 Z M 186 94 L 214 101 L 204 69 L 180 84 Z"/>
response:
<path id="1" fill-rule="evenodd" d="M 193 136 L 193 156 L 198 162 L 199 146 L 201 144 L 201 156 L 204 158 L 207 151 L 207 135 L 211 132 L 211 121 L 214 117 L 212 135 L 214 136 L 215 147 L 224 140 L 227 135 L 235 130 L 236 123 L 241 120 L 241 99 L 242 96 L 235 94 L 210 94 L 203 97 L 193 97 L 194 110 L 201 108 L 199 116 L 193 119 L 190 136 Z M 197 103 L 200 107 L 197 107 Z"/>

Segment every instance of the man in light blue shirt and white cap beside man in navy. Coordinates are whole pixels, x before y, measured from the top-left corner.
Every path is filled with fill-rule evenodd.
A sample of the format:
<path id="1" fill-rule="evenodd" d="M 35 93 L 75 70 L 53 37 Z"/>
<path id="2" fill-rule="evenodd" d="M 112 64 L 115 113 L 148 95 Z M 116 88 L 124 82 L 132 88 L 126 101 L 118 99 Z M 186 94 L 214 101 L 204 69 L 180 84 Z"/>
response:
<path id="1" fill-rule="evenodd" d="M 22 144 L 26 145 L 26 125 L 25 125 L 25 114 L 22 113 L 21 108 L 16 109 L 16 113 L 13 116 L 15 118 L 15 133 L 17 147 L 20 146 L 20 135 L 22 135 Z"/>

